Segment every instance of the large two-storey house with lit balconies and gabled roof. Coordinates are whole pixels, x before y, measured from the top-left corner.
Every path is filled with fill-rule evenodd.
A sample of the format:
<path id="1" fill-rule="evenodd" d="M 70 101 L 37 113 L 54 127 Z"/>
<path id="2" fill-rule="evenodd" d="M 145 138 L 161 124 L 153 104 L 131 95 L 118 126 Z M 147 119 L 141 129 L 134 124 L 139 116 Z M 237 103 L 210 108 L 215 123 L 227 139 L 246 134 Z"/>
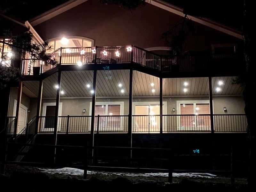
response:
<path id="1" fill-rule="evenodd" d="M 184 52 L 166 57 L 170 47 L 161 36 L 183 16 L 160 0 L 132 11 L 71 0 L 27 21 L 38 42 L 52 45 L 54 63 L 22 59 L 10 93 L 10 132 L 33 125 L 42 141 L 95 134 L 110 146 L 129 146 L 131 138 L 143 145 L 154 135 L 162 147 L 190 142 L 191 151 L 193 138 L 207 142 L 212 134 L 223 145 L 245 140 L 243 88 L 233 83 L 245 70 L 241 32 L 189 16 L 195 32 Z"/>

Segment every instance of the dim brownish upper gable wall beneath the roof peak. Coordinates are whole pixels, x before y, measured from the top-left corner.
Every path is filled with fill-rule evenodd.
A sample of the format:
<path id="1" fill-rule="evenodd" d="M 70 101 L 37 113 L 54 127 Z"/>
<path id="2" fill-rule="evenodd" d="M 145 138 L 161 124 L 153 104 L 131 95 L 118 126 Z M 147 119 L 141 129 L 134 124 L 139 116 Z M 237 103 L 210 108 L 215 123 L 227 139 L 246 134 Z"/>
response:
<path id="1" fill-rule="evenodd" d="M 89 0 L 34 28 L 44 40 L 84 36 L 94 39 L 98 46 L 133 44 L 148 48 L 167 46 L 161 36 L 180 19 L 151 4 L 131 11 Z M 222 43 L 243 44 L 243 41 L 196 23 L 195 33 L 188 36 L 184 51 L 210 51 L 211 44 Z"/>

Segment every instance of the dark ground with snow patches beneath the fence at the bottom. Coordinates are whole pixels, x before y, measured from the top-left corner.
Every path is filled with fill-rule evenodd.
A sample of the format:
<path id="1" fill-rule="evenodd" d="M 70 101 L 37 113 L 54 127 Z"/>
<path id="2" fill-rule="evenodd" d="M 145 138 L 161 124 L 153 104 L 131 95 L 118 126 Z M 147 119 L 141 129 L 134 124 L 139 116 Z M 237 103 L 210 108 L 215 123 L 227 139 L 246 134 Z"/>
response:
<path id="1" fill-rule="evenodd" d="M 3 191 L 12 191 L 7 186 L 14 189 L 25 189 L 26 191 L 76 191 L 72 186 L 80 186 L 84 189 L 88 187 L 108 188 L 121 187 L 161 189 L 168 190 L 188 190 L 188 191 L 246 191 L 246 179 L 236 178 L 235 186 L 230 185 L 230 178 L 213 175 L 209 173 L 173 173 L 173 183 L 167 182 L 168 173 L 128 173 L 128 172 L 102 172 L 88 171 L 88 179 L 84 180 L 83 170 L 76 168 L 40 168 L 30 166 L 7 165 L 6 175 L 1 176 L 1 187 Z M 12 184 L 15 185 L 12 185 Z M 26 188 L 29 186 L 29 188 Z M 38 188 L 38 186 L 40 186 Z M 7 187 L 7 189 L 6 189 Z M 0 190 L 1 191 L 1 190 Z M 81 191 L 81 190 L 79 190 Z"/>

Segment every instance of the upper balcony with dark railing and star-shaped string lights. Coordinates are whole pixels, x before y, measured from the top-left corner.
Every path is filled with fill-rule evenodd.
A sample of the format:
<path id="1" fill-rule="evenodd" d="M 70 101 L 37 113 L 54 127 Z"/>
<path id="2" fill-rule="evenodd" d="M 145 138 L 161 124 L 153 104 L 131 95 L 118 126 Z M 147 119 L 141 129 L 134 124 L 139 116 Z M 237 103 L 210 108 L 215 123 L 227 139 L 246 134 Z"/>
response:
<path id="1" fill-rule="evenodd" d="M 183 55 L 160 56 L 145 49 L 128 46 L 64 47 L 49 55 L 48 61 L 23 59 L 21 75 L 43 74 L 57 65 L 103 64 L 102 69 L 132 68 L 156 76 L 223 76 L 239 75 L 245 70 L 242 54 L 198 54 L 188 52 Z M 106 66 L 106 64 L 110 64 Z M 128 64 L 128 65 L 121 65 Z M 109 68 L 109 66 L 111 66 Z M 65 67 L 64 67 L 65 68 Z M 71 69 L 71 68 L 67 68 Z M 80 69 L 80 68 L 79 68 Z M 160 75 L 161 74 L 161 75 Z M 153 74 L 154 75 L 154 74 Z"/>

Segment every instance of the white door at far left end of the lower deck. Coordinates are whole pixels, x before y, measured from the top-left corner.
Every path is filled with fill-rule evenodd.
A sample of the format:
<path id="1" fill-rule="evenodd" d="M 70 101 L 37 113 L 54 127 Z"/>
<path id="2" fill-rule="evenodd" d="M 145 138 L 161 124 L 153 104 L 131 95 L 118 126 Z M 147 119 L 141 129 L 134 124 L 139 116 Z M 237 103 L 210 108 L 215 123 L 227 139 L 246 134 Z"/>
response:
<path id="1" fill-rule="evenodd" d="M 16 109 L 17 109 L 17 100 L 14 100 L 12 116 L 16 116 Z M 20 111 L 19 111 L 19 117 L 18 117 L 18 127 L 17 127 L 17 133 L 18 134 L 21 132 L 21 130 L 27 124 L 27 115 L 28 115 L 28 108 L 26 106 L 20 104 Z"/>

